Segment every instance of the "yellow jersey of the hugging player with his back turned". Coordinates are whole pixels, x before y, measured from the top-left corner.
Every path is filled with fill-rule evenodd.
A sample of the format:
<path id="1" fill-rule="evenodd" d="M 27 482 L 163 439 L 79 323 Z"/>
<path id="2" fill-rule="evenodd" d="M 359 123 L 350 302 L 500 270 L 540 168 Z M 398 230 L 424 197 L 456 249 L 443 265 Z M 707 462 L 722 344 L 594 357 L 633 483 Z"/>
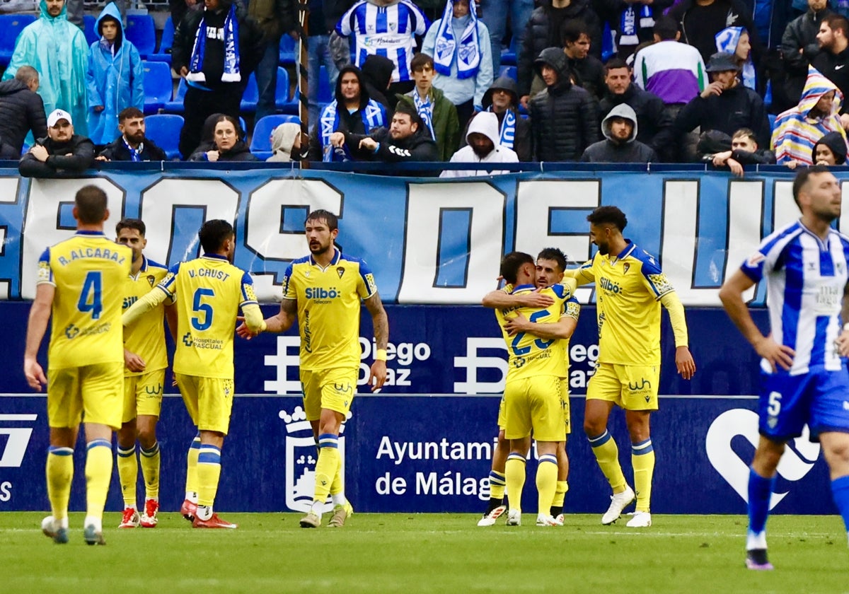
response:
<path id="1" fill-rule="evenodd" d="M 537 289 L 530 284 L 519 285 L 509 289 L 511 294 L 521 294 Z M 554 375 L 566 378 L 569 375 L 569 361 L 567 346 L 568 340 L 541 339 L 529 333 L 516 333 L 510 336 L 504 330 L 504 322 L 515 314 L 522 314 L 531 322 L 551 323 L 557 322 L 563 316 L 571 316 L 577 319 L 577 311 L 580 305 L 572 296 L 572 287 L 569 284 L 555 284 L 545 289 L 538 289 L 539 293 L 547 294 L 554 299 L 554 304 L 545 308 L 513 307 L 509 309 L 498 309 L 495 317 L 498 320 L 498 328 L 507 343 L 508 372 L 507 381 L 531 378 L 537 375 Z"/>

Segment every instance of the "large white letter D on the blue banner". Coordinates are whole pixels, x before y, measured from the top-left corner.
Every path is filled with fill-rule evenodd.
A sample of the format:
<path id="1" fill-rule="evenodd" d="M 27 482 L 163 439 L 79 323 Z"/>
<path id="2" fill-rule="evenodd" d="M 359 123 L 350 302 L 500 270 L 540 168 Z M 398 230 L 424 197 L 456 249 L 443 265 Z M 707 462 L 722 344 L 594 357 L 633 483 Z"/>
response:
<path id="1" fill-rule="evenodd" d="M 495 287 L 503 255 L 506 197 L 486 182 L 408 184 L 404 264 L 398 303 L 480 303 Z M 440 287 L 440 221 L 443 211 L 469 210 L 465 285 Z"/>

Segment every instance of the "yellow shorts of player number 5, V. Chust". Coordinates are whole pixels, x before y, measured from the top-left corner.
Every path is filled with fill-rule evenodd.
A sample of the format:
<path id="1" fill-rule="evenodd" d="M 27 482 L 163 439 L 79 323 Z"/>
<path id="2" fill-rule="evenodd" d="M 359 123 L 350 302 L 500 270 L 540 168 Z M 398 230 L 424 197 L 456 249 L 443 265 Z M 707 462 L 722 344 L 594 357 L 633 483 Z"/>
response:
<path id="1" fill-rule="evenodd" d="M 200 431 L 227 434 L 233 410 L 233 380 L 175 373 L 188 416 Z"/>

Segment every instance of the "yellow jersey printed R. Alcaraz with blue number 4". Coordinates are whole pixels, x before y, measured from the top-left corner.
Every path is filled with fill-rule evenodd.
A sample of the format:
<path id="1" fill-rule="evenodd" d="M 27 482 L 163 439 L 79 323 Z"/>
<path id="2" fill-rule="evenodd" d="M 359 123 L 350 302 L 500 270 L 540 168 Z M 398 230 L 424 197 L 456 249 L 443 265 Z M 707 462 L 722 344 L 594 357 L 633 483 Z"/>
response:
<path id="1" fill-rule="evenodd" d="M 132 250 L 102 232 L 77 231 L 44 250 L 37 284 L 56 287 L 48 368 L 124 361 L 121 304 Z"/>

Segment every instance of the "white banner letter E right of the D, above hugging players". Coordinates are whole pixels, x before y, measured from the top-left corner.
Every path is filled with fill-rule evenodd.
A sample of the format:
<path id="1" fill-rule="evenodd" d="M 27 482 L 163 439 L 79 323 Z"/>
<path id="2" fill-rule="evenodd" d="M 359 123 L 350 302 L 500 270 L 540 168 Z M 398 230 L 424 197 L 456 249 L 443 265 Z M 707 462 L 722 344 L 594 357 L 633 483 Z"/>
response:
<path id="1" fill-rule="evenodd" d="M 516 192 L 515 249 L 533 256 L 542 248 L 562 249 L 571 261 L 583 264 L 592 256 L 589 223 L 582 214 L 580 231 L 561 233 L 551 228 L 552 210 L 593 210 L 601 203 L 601 184 L 589 181 L 519 182 Z M 582 288 L 576 297 L 588 303 L 593 289 Z"/>

